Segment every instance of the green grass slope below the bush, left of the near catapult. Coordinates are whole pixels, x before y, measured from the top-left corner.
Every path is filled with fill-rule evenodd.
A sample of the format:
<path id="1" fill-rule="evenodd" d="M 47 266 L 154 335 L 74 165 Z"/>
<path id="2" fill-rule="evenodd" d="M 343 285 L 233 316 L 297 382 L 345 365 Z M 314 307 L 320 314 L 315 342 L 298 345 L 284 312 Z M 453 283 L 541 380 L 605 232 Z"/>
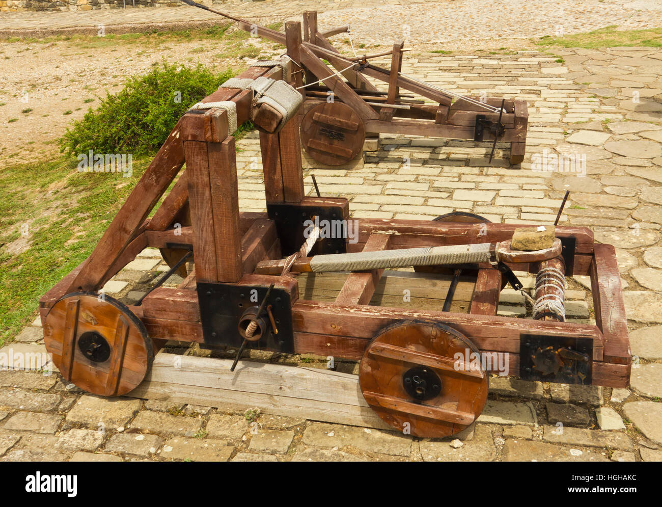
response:
<path id="1" fill-rule="evenodd" d="M 39 298 L 89 256 L 149 162 L 134 158 L 132 178 L 77 172 L 77 160 L 64 157 L 0 171 L 0 345 L 30 323 Z M 29 247 L 10 254 L 7 246 L 15 241 Z"/>

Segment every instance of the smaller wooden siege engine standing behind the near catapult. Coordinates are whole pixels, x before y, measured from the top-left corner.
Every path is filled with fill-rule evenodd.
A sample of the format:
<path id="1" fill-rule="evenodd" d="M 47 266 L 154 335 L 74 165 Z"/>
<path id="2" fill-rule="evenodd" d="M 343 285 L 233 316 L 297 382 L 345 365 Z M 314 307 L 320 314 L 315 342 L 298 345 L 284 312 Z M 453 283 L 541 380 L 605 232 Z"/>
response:
<path id="1" fill-rule="evenodd" d="M 524 160 L 529 116 L 525 100 L 461 95 L 405 76 L 401 70 L 406 50 L 401 40 L 392 50 L 346 57 L 328 38 L 349 34 L 350 27 L 320 32 L 316 11 L 303 13 L 303 34 L 299 30 L 288 42 L 287 35 L 276 30 L 182 1 L 236 21 L 254 36 L 287 46 L 287 58 L 296 66 L 293 82 L 305 97 L 300 120 L 303 148 L 321 164 L 346 164 L 362 154 L 366 135 L 379 133 L 491 142 L 488 162 L 497 141 L 510 142 L 510 164 Z M 390 69 L 369 62 L 387 55 L 391 55 Z M 380 91 L 367 78 L 388 84 L 388 90 Z M 340 135 L 330 126 L 342 127 Z"/>

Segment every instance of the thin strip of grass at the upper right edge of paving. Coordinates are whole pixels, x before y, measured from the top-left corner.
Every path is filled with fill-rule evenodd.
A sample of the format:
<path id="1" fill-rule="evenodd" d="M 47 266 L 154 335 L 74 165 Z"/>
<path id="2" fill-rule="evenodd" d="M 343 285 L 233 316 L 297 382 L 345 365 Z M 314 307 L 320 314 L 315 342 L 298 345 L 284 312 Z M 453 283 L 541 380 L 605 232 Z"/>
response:
<path id="1" fill-rule="evenodd" d="M 616 46 L 662 47 L 662 28 L 646 30 L 616 30 L 616 26 L 600 28 L 587 33 L 563 37 L 544 36 L 538 46 L 561 46 L 563 48 L 613 48 Z"/>

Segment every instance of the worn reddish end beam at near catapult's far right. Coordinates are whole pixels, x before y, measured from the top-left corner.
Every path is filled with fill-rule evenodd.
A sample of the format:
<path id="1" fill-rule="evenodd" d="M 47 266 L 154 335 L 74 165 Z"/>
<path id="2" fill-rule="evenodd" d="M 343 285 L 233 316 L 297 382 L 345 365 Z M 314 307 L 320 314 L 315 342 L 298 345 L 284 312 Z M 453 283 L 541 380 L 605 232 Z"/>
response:
<path id="1" fill-rule="evenodd" d="M 595 321 L 604 335 L 604 361 L 629 367 L 631 353 L 628 320 L 616 262 L 616 249 L 612 245 L 594 246 L 591 287 Z"/>

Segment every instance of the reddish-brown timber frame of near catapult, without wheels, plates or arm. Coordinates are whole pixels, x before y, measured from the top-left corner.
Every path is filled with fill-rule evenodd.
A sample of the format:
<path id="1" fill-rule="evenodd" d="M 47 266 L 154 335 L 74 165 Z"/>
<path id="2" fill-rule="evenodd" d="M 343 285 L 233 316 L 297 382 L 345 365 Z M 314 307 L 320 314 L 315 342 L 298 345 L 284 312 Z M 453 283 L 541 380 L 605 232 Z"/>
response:
<path id="1" fill-rule="evenodd" d="M 258 76 L 285 78 L 295 82 L 287 70 L 283 76 L 280 66 L 250 68 L 240 77 Z M 297 213 L 303 210 L 303 215 L 312 213 L 307 213 L 307 209 L 316 210 L 314 213 L 319 213 L 320 209 L 332 209 L 338 220 L 350 221 L 347 199 L 305 197 L 296 119 L 287 122 L 283 129 L 277 131 L 275 126 L 281 123 L 279 117 L 274 111 L 254 107 L 250 91 L 220 88 L 205 99 L 220 100 L 237 103 L 238 123 L 250 118 L 260 128 L 267 207 L 271 205 L 271 209 L 274 209 L 273 205 L 279 205 L 279 209 L 283 209 L 283 206 L 291 205 L 297 209 Z M 404 300 L 402 304 L 393 306 L 371 305 L 383 270 L 347 274 L 342 287 L 331 301 L 305 299 L 301 297 L 297 276 L 256 274 L 256 266 L 261 260 L 282 258 L 283 237 L 279 236 L 279 231 L 282 232 L 283 228 L 282 224 L 279 226 L 277 217 L 270 217 L 267 213 L 240 212 L 234 138 L 229 134 L 225 111 L 209 109 L 202 113 L 187 112 L 118 212 L 95 251 L 41 298 L 42 321 L 46 321 L 50 310 L 64 296 L 101 290 L 107 280 L 143 249 L 153 247 L 173 251 L 185 248 L 193 250 L 195 270 L 179 287 L 157 288 L 142 300 L 140 306 L 129 306 L 122 310 L 122 318 L 128 315 L 139 319 L 148 339 L 152 340 L 154 351 L 167 340 L 205 343 L 196 290 L 198 282 L 246 288 L 268 288 L 273 285 L 290 300 L 288 308 L 291 308 L 295 353 L 361 359 L 371 341 L 383 329 L 416 321 L 427 326 L 454 330 L 481 354 L 500 354 L 502 358 L 507 358 L 508 370 L 505 373 L 520 377 L 526 369 L 526 361 L 529 361 L 526 356 L 528 353 L 522 348 L 526 337 L 542 337 L 547 341 L 563 343 L 579 343 L 581 340 L 589 345 L 590 350 L 590 357 L 585 358 L 591 366 L 591 377 L 586 377 L 587 383 L 610 387 L 628 385 L 630 347 L 616 254 L 610 245 L 594 244 L 589 229 L 557 227 L 556 235 L 566 242 L 569 249 L 565 252 L 568 260 L 565 274 L 591 276 L 596 325 L 496 315 L 498 297 L 504 282 L 500 272 L 491 264 L 479 264 L 478 269 L 472 271 L 475 274 L 463 282 L 469 286 L 470 293 L 465 312 L 458 311 L 457 307 L 451 307 L 454 311 L 422 310 L 406 304 Z M 186 164 L 185 172 L 152 219 L 147 219 L 183 164 Z M 184 211 L 190 215 L 191 225 L 175 227 L 176 220 Z M 346 250 L 350 252 L 495 243 L 510 239 L 514 229 L 521 227 L 496 223 L 389 219 L 357 219 L 354 222 L 357 225 L 355 242 L 346 239 L 345 243 Z M 539 269 L 537 263 L 519 263 L 510 267 L 532 273 L 537 273 Z M 434 275 L 417 273 L 414 276 L 424 278 Z M 75 320 L 73 317 L 60 319 L 66 321 L 67 325 L 75 323 Z M 52 334 L 52 331 L 50 329 L 49 333 Z M 77 340 L 75 331 L 73 335 L 55 335 L 66 335 L 71 347 Z M 401 350 L 406 350 L 406 347 L 401 347 Z M 420 351 L 414 355 L 424 356 Z M 151 361 L 151 351 L 147 356 Z M 430 359 L 430 355 L 427 357 Z M 79 363 L 82 361 L 84 358 L 79 359 Z M 432 358 L 430 361 L 438 362 L 440 359 Z M 91 368 L 94 367 L 91 365 Z M 483 369 L 504 373 L 495 363 L 488 362 Z M 99 392 L 111 392 L 105 387 L 107 385 L 119 385 L 118 375 L 105 380 L 105 390 Z M 581 382 L 582 378 L 577 380 L 577 383 Z M 452 410 L 449 412 L 448 408 L 439 408 L 434 412 L 448 415 Z M 467 423 L 468 419 L 463 416 L 461 424 L 458 422 L 457 425 L 459 427 Z"/>

